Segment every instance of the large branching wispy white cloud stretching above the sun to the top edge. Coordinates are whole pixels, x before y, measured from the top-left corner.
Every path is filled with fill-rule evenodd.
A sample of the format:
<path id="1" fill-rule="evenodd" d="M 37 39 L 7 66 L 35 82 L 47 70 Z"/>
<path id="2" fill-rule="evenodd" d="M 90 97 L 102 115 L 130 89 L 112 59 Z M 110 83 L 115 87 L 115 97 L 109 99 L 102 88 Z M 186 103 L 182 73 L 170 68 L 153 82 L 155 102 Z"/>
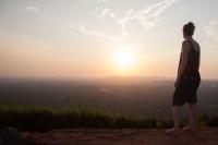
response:
<path id="1" fill-rule="evenodd" d="M 107 2 L 107 0 L 89 0 L 89 1 Z M 114 24 L 117 24 L 118 27 L 121 29 L 119 36 L 109 36 L 105 32 L 87 29 L 83 24 L 80 24 L 78 26 L 74 26 L 71 24 L 69 26 L 72 29 L 77 29 L 80 33 L 83 33 L 86 36 L 95 37 L 98 40 L 107 43 L 121 43 L 125 40 L 125 38 L 129 36 L 128 25 L 130 22 L 132 21 L 140 22 L 140 24 L 144 28 L 152 28 L 156 26 L 156 24 L 160 21 L 159 20 L 160 14 L 162 14 L 165 10 L 167 10 L 177 1 L 178 0 L 162 0 L 137 11 L 130 9 L 125 12 L 124 16 L 120 19 L 118 19 L 116 13 L 108 8 L 104 9 L 100 14 L 95 14 L 96 17 L 98 19 L 105 19 L 106 16 L 112 17 Z"/>

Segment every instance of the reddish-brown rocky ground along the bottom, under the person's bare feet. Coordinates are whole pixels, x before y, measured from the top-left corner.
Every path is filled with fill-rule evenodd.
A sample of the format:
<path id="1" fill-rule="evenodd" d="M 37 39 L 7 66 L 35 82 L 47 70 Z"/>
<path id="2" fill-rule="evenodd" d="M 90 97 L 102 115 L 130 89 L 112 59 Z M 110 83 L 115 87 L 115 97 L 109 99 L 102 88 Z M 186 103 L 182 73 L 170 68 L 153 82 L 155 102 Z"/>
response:
<path id="1" fill-rule="evenodd" d="M 218 145 L 218 128 L 181 132 L 178 138 L 156 129 L 64 129 L 22 135 L 25 145 Z"/>

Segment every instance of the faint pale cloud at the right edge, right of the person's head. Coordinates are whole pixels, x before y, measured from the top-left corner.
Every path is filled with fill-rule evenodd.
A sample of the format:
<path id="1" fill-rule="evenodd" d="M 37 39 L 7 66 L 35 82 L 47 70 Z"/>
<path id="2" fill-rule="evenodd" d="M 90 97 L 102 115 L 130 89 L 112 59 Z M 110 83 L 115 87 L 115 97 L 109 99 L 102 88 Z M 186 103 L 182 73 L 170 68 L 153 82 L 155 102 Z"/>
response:
<path id="1" fill-rule="evenodd" d="M 218 20 L 210 21 L 207 26 L 204 27 L 206 37 L 210 40 L 218 40 Z"/>

